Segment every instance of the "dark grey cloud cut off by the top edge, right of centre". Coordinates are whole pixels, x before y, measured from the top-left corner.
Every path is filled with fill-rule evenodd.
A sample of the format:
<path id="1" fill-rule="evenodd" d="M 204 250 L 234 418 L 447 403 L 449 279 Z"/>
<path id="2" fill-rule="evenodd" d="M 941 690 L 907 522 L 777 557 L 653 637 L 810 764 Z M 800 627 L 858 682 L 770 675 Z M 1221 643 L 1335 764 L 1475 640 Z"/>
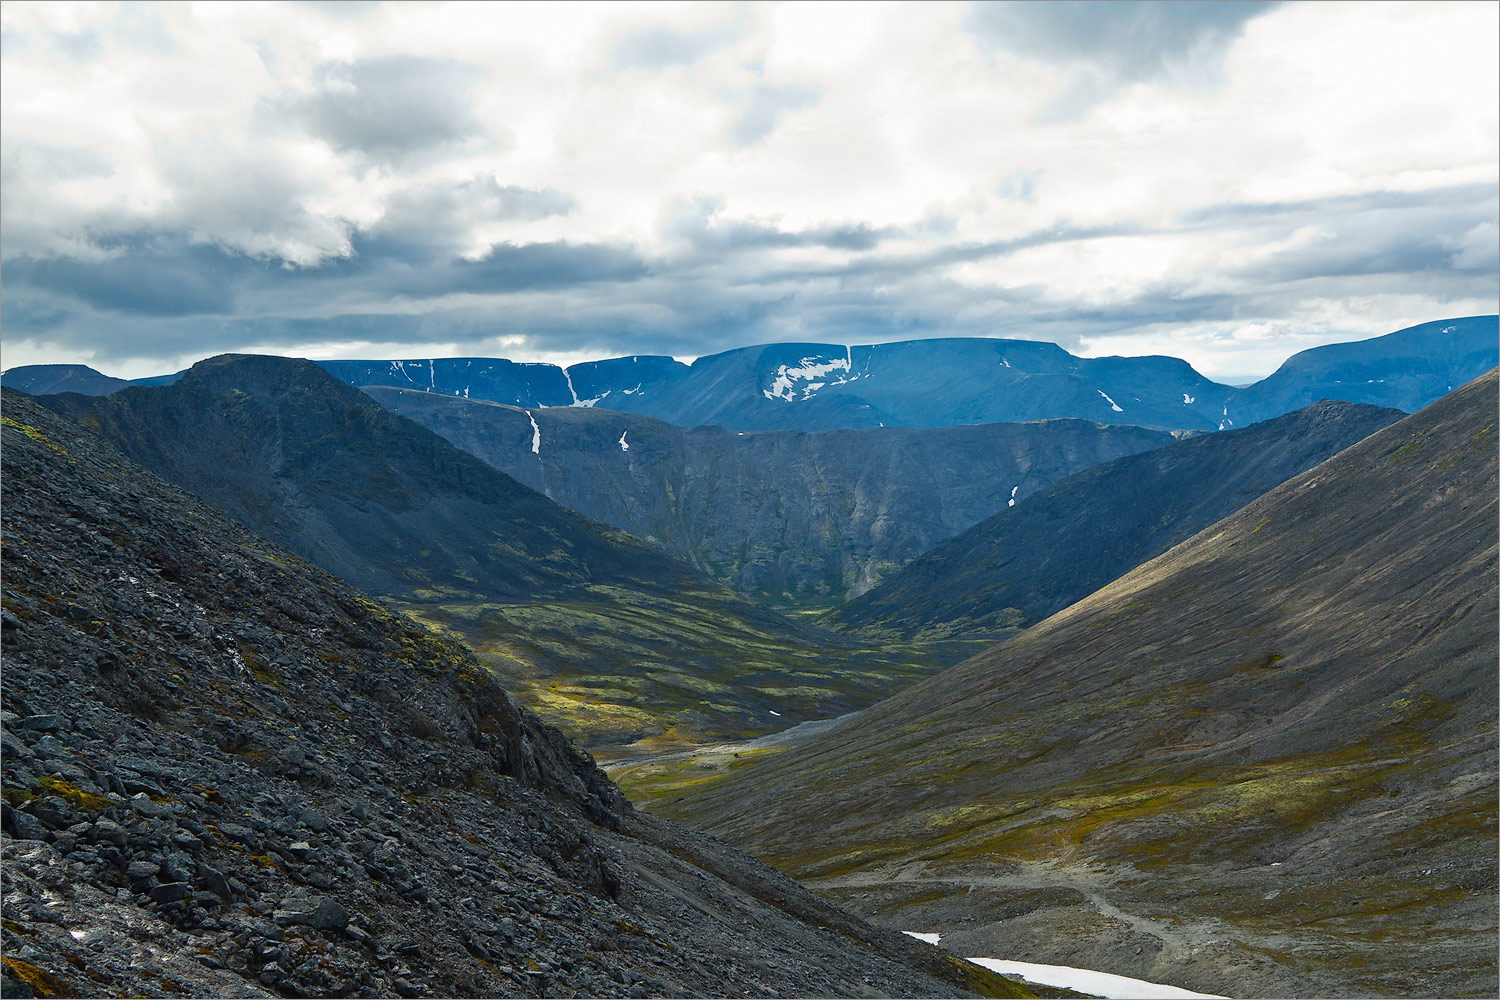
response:
<path id="1" fill-rule="evenodd" d="M 984 45 L 1070 70 L 1044 118 L 1071 118 L 1134 82 L 1218 76 L 1245 22 L 1280 6 L 1257 0 L 1005 0 L 964 18 Z"/>

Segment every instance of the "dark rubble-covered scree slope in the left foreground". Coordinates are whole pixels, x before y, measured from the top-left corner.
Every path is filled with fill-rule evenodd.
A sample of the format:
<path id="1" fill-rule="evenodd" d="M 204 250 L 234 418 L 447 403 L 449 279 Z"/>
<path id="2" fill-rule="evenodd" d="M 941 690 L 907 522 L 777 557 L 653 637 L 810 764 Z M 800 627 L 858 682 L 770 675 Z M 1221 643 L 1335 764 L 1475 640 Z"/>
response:
<path id="1" fill-rule="evenodd" d="M 1029 996 L 636 814 L 462 646 L 3 414 L 8 997 Z"/>

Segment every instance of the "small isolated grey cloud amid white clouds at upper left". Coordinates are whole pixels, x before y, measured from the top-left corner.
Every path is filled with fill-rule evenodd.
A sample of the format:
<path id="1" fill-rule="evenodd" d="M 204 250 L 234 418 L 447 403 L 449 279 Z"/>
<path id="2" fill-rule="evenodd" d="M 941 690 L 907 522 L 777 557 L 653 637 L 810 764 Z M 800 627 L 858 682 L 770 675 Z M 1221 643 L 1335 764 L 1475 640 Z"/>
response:
<path id="1" fill-rule="evenodd" d="M 369 55 L 318 66 L 310 91 L 267 102 L 333 148 L 400 165 L 496 141 L 474 117 L 466 90 L 484 78 L 477 66 L 423 55 Z"/>

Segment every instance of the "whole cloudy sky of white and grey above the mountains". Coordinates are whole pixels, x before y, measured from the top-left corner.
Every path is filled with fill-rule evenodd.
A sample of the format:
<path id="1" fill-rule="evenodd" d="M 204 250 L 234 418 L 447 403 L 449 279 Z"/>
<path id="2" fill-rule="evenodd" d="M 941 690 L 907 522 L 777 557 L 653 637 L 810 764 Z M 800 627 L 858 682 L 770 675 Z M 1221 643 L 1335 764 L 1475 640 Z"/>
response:
<path id="1" fill-rule="evenodd" d="M 26 3 L 3 364 L 934 336 L 1210 376 L 1491 313 L 1496 3 Z"/>

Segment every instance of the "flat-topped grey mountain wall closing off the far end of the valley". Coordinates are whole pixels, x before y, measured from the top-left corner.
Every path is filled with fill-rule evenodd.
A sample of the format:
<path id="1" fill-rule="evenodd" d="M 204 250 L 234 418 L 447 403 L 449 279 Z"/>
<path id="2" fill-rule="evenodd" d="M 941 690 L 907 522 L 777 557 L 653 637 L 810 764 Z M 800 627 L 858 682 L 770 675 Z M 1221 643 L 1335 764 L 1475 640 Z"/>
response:
<path id="1" fill-rule="evenodd" d="M 1160 430 L 1082 420 L 747 433 L 606 409 L 364 391 L 738 594 L 790 607 L 861 594 L 1017 498 L 1173 441 Z"/>

